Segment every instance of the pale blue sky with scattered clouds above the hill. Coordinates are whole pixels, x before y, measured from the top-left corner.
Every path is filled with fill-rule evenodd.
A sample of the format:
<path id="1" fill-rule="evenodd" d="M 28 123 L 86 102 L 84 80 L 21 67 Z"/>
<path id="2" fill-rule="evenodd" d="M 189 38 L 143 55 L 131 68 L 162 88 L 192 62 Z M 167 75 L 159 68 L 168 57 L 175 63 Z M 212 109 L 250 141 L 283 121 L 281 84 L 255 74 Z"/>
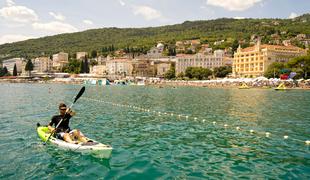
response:
<path id="1" fill-rule="evenodd" d="M 0 44 L 95 28 L 305 13 L 310 0 L 0 0 Z"/>

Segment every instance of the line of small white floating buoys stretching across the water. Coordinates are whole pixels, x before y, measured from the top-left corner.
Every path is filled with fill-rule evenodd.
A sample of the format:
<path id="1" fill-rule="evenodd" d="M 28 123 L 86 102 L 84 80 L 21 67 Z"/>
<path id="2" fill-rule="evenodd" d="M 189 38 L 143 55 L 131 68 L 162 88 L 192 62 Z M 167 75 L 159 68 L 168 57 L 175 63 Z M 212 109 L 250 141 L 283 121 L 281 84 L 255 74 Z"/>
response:
<path id="1" fill-rule="evenodd" d="M 143 107 L 139 107 L 139 106 L 135 106 L 135 105 L 129 105 L 129 104 L 118 104 L 118 103 L 114 103 L 114 102 L 109 102 L 109 101 L 104 101 L 104 100 L 100 100 L 100 99 L 92 99 L 92 98 L 87 98 L 87 97 L 82 97 L 81 99 L 85 99 L 88 101 L 95 101 L 95 102 L 100 102 L 100 103 L 105 103 L 105 104 L 109 104 L 112 106 L 117 106 L 117 107 L 125 107 L 125 108 L 131 108 L 134 109 L 136 111 L 141 111 L 141 112 L 147 112 L 147 113 L 152 113 L 153 115 L 157 115 L 157 116 L 170 116 L 170 117 L 176 117 L 178 119 L 185 119 L 185 120 L 189 120 L 189 119 L 193 119 L 195 121 L 201 121 L 203 123 L 206 123 L 206 119 L 203 118 L 198 118 L 198 117 L 192 117 L 189 115 L 184 115 L 184 114 L 177 114 L 177 113 L 173 113 L 173 112 L 161 112 L 161 111 L 155 111 L 155 110 L 151 110 L 148 108 L 143 108 Z M 244 129 L 241 128 L 240 126 L 233 126 L 233 125 L 229 125 L 227 123 L 219 123 L 216 121 L 212 121 L 211 125 L 213 126 L 217 126 L 217 127 L 224 127 L 225 129 L 231 128 L 231 129 L 235 129 L 236 131 L 242 131 L 242 132 L 247 132 L 250 134 L 257 134 L 257 135 L 261 135 L 264 136 L 266 138 L 271 138 L 273 137 L 271 132 L 259 132 L 259 131 L 255 131 L 253 129 Z M 282 137 L 282 139 L 284 140 L 292 140 L 292 141 L 296 141 L 298 143 L 304 143 L 305 145 L 310 145 L 310 140 L 300 140 L 300 139 L 296 139 L 296 138 L 292 138 L 288 135 L 284 135 Z"/>

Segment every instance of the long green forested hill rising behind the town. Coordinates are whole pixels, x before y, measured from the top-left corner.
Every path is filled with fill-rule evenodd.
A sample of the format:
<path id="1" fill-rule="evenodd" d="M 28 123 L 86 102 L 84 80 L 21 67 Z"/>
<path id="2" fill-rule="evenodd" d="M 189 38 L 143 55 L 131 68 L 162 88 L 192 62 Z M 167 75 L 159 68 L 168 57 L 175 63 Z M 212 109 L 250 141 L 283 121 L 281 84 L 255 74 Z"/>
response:
<path id="1" fill-rule="evenodd" d="M 285 33 L 281 33 L 285 32 Z M 0 45 L 0 57 L 51 55 L 59 51 L 71 54 L 77 51 L 97 50 L 113 45 L 116 49 L 137 47 L 149 49 L 158 41 L 174 44 L 177 40 L 200 39 L 212 42 L 225 39 L 224 46 L 234 40 L 248 42 L 256 34 L 268 42 L 270 35 L 278 33 L 281 39 L 299 33 L 310 34 L 310 14 L 295 19 L 216 19 L 186 21 L 182 24 L 148 28 L 101 28 L 77 33 L 60 34 L 38 39 Z M 264 43 L 264 42 L 263 42 Z"/>

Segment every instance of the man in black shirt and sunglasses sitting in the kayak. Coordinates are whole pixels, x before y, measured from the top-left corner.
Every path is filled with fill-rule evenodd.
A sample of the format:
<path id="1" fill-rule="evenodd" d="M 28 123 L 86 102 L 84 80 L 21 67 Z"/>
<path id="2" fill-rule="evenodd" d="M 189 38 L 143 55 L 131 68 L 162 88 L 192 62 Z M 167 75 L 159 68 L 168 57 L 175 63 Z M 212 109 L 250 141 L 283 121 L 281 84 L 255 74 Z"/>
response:
<path id="1" fill-rule="evenodd" d="M 55 135 L 58 139 L 63 139 L 66 142 L 77 144 L 77 141 L 79 140 L 82 142 L 87 142 L 87 139 L 85 136 L 77 129 L 71 130 L 69 127 L 69 120 L 72 116 L 75 115 L 75 112 L 73 112 L 70 108 L 67 108 L 67 106 L 64 103 L 59 104 L 59 115 L 55 115 L 52 117 L 52 120 L 48 123 L 48 129 L 53 132 L 55 131 L 55 128 L 53 128 L 53 124 L 55 127 L 57 124 L 62 120 L 58 128 L 56 129 Z"/>

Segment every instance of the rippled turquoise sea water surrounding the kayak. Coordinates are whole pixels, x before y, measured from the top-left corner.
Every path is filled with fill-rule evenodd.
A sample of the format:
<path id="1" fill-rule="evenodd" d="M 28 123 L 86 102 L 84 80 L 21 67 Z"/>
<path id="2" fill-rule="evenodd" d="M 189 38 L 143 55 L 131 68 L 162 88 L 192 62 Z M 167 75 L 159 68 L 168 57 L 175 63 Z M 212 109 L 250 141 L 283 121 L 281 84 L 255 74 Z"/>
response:
<path id="1" fill-rule="evenodd" d="M 107 160 L 36 134 L 80 88 L 0 84 L 0 179 L 310 178 L 310 91 L 86 87 L 71 127 L 112 145 Z"/>

